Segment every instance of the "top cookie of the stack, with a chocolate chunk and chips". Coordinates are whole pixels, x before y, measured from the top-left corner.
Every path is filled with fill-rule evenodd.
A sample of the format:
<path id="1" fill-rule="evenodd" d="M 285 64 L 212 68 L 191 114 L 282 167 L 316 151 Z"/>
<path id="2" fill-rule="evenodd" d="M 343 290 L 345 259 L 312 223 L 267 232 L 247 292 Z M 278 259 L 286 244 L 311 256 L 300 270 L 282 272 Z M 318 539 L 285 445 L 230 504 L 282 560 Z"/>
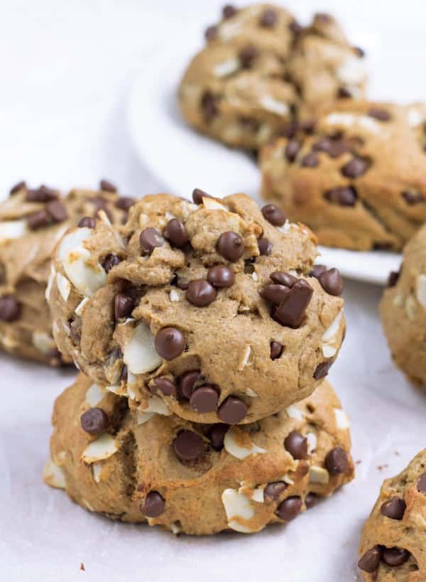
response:
<path id="1" fill-rule="evenodd" d="M 344 334 L 342 279 L 315 239 L 244 194 L 149 195 L 122 228 L 75 228 L 54 254 L 59 349 L 140 411 L 250 423 L 313 392 Z M 108 272 L 109 257 L 117 263 Z"/>

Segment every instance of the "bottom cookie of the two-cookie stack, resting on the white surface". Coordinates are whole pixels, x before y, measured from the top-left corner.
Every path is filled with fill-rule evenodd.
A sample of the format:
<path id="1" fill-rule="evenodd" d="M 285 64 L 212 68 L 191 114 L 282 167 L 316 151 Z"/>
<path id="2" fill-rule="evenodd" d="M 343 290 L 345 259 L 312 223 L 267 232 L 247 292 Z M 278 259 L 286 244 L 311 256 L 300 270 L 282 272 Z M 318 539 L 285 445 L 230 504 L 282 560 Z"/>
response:
<path id="1" fill-rule="evenodd" d="M 287 411 L 237 427 L 138 415 L 80 374 L 57 399 L 53 426 L 48 485 L 90 511 L 173 533 L 258 532 L 354 475 L 349 421 L 327 382 Z"/>

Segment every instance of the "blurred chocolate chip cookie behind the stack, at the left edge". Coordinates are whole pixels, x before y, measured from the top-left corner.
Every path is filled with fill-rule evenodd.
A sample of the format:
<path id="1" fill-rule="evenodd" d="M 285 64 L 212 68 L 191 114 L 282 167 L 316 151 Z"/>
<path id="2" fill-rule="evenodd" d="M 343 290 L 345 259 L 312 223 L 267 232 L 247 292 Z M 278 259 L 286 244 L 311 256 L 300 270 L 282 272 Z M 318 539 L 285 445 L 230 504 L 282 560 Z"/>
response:
<path id="1" fill-rule="evenodd" d="M 72 359 L 61 357 L 53 340 L 45 292 L 50 255 L 70 225 L 103 209 L 111 220 L 126 217 L 130 198 L 103 191 L 72 190 L 63 196 L 52 188 L 27 188 L 19 183 L 0 203 L 0 347 L 28 360 L 58 366 Z M 90 218 L 89 218 L 90 217 Z M 58 277 L 61 292 L 68 284 Z M 50 282 L 52 284 L 53 281 Z"/>

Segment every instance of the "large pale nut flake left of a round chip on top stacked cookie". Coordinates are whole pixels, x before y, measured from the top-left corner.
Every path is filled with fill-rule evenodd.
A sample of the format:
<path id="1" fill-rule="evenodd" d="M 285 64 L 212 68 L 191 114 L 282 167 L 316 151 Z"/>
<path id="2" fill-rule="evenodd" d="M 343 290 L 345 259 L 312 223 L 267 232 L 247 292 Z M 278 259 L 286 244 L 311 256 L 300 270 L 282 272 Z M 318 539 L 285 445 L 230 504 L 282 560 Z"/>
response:
<path id="1" fill-rule="evenodd" d="M 143 321 L 134 328 L 133 335 L 124 347 L 123 361 L 133 374 L 152 372 L 163 362 L 163 358 L 155 351 L 154 336 Z"/>

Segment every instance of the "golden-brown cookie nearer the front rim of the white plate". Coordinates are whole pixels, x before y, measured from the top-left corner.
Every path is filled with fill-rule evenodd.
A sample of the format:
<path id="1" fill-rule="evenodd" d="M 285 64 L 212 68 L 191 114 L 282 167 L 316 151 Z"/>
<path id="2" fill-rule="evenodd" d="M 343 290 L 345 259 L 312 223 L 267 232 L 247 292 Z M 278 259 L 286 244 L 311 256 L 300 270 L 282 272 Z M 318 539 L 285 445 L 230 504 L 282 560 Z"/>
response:
<path id="1" fill-rule="evenodd" d="M 400 250 L 426 220 L 425 107 L 347 99 L 261 152 L 262 195 L 320 244 Z"/>

